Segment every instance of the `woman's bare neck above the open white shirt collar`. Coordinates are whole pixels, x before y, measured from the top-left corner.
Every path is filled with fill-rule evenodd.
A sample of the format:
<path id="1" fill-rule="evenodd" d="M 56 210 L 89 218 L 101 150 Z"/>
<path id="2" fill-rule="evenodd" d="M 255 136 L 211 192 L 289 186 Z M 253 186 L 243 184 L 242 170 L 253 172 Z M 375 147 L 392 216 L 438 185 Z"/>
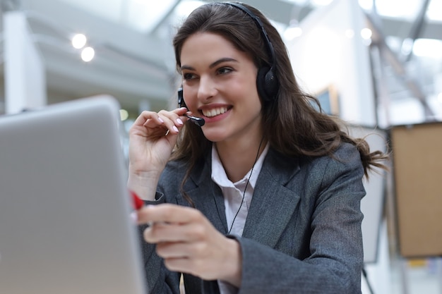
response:
<path id="1" fill-rule="evenodd" d="M 262 143 L 261 143 L 262 141 Z M 217 142 L 218 156 L 227 174 L 227 178 L 233 183 L 244 178 L 251 170 L 256 159 L 263 152 L 266 140 L 261 136 L 255 136 L 255 140 L 244 138 L 233 142 Z M 258 150 L 259 147 L 259 150 Z"/>

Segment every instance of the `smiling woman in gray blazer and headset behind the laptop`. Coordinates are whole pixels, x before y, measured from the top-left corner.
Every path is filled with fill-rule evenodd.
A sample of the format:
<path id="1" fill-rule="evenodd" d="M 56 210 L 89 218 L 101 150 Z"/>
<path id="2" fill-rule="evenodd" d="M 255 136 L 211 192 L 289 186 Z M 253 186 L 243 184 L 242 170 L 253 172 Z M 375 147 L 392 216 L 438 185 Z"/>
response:
<path id="1" fill-rule="evenodd" d="M 362 178 L 385 156 L 311 106 L 255 8 L 197 8 L 174 49 L 188 109 L 130 131 L 151 293 L 181 273 L 186 293 L 360 293 Z"/>

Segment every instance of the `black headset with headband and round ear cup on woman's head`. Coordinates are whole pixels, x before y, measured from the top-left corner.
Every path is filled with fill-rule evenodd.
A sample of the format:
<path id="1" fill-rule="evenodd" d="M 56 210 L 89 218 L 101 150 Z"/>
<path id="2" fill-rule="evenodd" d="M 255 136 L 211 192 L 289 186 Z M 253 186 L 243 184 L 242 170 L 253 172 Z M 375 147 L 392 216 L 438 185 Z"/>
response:
<path id="1" fill-rule="evenodd" d="M 258 90 L 258 94 L 264 102 L 273 102 L 276 99 L 277 91 L 279 90 L 279 82 L 277 80 L 277 76 L 275 75 L 275 49 L 273 49 L 272 42 L 270 42 L 270 38 L 268 37 L 267 32 L 265 31 L 264 25 L 261 22 L 261 19 L 258 18 L 253 12 L 250 11 L 249 8 L 243 6 L 239 3 L 232 2 L 220 2 L 215 4 L 224 4 L 228 6 L 232 6 L 237 8 L 246 15 L 250 16 L 253 21 L 256 23 L 258 28 L 261 30 L 261 35 L 264 39 L 265 45 L 268 50 L 268 57 L 270 59 L 270 66 L 263 66 L 259 68 L 258 75 L 256 76 L 256 88 Z M 180 87 L 178 90 L 178 104 L 180 107 L 186 107 L 183 98 L 183 88 Z"/>

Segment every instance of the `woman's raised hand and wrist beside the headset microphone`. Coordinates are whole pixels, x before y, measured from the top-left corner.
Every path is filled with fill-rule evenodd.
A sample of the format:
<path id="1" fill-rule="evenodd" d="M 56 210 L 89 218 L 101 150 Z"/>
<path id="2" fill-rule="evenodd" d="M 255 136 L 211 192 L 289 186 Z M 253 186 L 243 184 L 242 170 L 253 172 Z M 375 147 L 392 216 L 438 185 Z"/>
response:
<path id="1" fill-rule="evenodd" d="M 129 130 L 129 189 L 144 200 L 155 200 L 162 170 L 172 154 L 185 108 L 158 113 L 143 111 Z"/>

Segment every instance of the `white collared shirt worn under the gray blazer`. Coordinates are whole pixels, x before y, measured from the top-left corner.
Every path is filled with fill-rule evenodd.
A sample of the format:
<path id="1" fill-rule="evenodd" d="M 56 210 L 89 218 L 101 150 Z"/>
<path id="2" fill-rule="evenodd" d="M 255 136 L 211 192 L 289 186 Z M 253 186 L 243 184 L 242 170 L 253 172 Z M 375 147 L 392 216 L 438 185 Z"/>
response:
<path id="1" fill-rule="evenodd" d="M 253 191 L 256 187 L 256 180 L 258 180 L 268 148 L 268 145 L 266 145 L 256 163 L 244 178 L 236 183 L 232 183 L 232 181 L 227 178 L 215 145 L 212 147 L 212 180 L 220 186 L 222 195 L 224 196 L 228 233 L 242 235 L 244 231 L 244 224 L 246 223 L 247 214 L 249 213 Z M 221 294 L 237 293 L 237 289 L 228 283 L 218 281 L 218 286 Z"/>

